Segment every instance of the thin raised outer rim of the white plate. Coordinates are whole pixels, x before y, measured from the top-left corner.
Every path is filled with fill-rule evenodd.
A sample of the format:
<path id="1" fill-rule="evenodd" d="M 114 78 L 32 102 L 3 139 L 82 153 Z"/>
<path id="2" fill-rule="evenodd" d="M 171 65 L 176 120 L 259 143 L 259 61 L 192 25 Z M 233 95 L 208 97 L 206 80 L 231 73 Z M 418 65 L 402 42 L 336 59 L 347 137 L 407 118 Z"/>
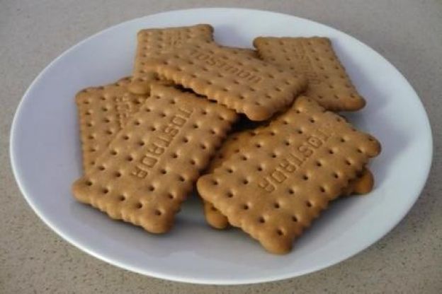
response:
<path id="1" fill-rule="evenodd" d="M 387 228 L 387 230 L 385 230 L 385 233 L 382 233 L 380 236 L 375 238 L 375 240 L 373 240 L 373 242 L 370 242 L 370 244 L 362 246 L 362 248 L 359 249 L 358 251 L 346 255 L 346 257 L 344 257 L 344 259 L 329 261 L 329 263 L 322 264 L 320 266 L 312 266 L 310 268 L 310 270 L 300 271 L 300 273 L 298 273 L 298 274 L 293 274 L 293 272 L 288 272 L 288 274 L 278 274 L 278 276 L 271 276 L 271 277 L 247 278 L 246 280 L 223 279 L 221 281 L 220 279 L 216 279 L 216 278 L 215 279 L 214 278 L 212 278 L 212 279 L 210 279 L 210 278 L 188 278 L 188 277 L 176 276 L 174 274 L 167 275 L 167 274 L 157 273 L 155 271 L 148 271 L 148 270 L 146 270 L 144 268 L 140 268 L 138 266 L 131 266 L 130 264 L 122 263 L 118 259 L 112 259 L 111 257 L 108 257 L 106 255 L 102 255 L 102 254 L 100 254 L 100 252 L 96 252 L 96 250 L 89 248 L 88 245 L 81 244 L 81 242 L 74 240 L 75 239 L 74 237 L 71 237 L 71 236 L 69 236 L 69 234 L 64 233 L 64 230 L 57 228 L 57 225 L 52 224 L 50 222 L 50 220 L 48 220 L 46 218 L 45 214 L 42 213 L 38 208 L 36 208 L 36 204 L 33 201 L 33 197 L 30 196 L 31 193 L 26 189 L 24 184 L 21 182 L 22 180 L 21 180 L 21 175 L 20 175 L 20 171 L 19 171 L 20 169 L 18 167 L 17 154 L 15 153 L 15 150 L 16 150 L 16 148 L 15 148 L 16 142 L 15 141 L 16 141 L 16 132 L 17 132 L 16 129 L 17 129 L 17 125 L 18 125 L 18 119 L 21 117 L 21 112 L 23 111 L 23 105 L 26 102 L 26 100 L 28 100 L 28 96 L 30 95 L 33 88 L 35 87 L 35 84 L 38 83 L 40 78 L 42 78 L 42 76 L 44 76 L 45 73 L 47 71 L 49 71 L 52 68 L 52 66 L 54 66 L 57 63 L 57 61 L 59 61 L 60 59 L 65 57 L 67 54 L 69 54 L 69 52 L 74 51 L 75 49 L 77 49 L 77 47 L 80 47 L 84 43 L 89 42 L 89 40 L 94 39 L 94 37 L 101 35 L 102 33 L 106 33 L 109 30 L 113 30 L 115 27 L 118 27 L 119 25 L 123 25 L 125 23 L 130 23 L 130 22 L 134 22 L 137 20 L 141 20 L 142 18 L 146 18 L 149 16 L 159 16 L 159 15 L 167 14 L 167 13 L 185 13 L 188 11 L 207 11 L 207 10 L 217 11 L 218 13 L 220 13 L 222 11 L 249 11 L 251 13 L 255 13 L 255 12 L 271 13 L 276 16 L 278 16 L 278 15 L 285 16 L 285 17 L 289 16 L 290 18 L 307 20 L 307 21 L 310 21 L 310 22 L 315 23 L 317 25 L 323 25 L 327 28 L 331 28 L 331 29 L 336 30 L 340 33 L 343 33 L 344 35 L 346 35 L 346 37 L 350 38 L 353 42 L 357 42 L 359 45 L 363 45 L 363 46 L 367 47 L 368 49 L 370 49 L 373 53 L 378 55 L 378 57 L 380 57 L 382 59 L 382 61 L 384 61 L 385 63 L 392 66 L 392 68 L 394 68 L 397 71 L 397 73 L 399 73 L 400 78 L 402 78 L 402 80 L 404 80 L 405 83 L 407 83 L 410 86 L 410 89 L 413 91 L 414 95 L 416 95 L 416 98 L 418 98 L 417 102 L 420 104 L 421 110 L 424 111 L 424 114 L 425 114 L 424 116 L 426 118 L 426 122 L 425 122 L 426 129 L 424 131 L 429 134 L 428 141 L 426 142 L 426 145 L 429 150 L 426 153 L 428 155 L 426 156 L 426 161 L 425 161 L 426 169 L 425 169 L 425 175 L 423 177 L 425 180 L 423 180 L 421 183 L 419 183 L 418 189 L 417 189 L 419 192 L 414 196 L 413 201 L 410 202 L 407 209 L 404 209 L 404 211 L 402 211 L 400 217 L 397 218 L 397 220 L 395 222 L 391 222 L 390 225 L 387 226 L 388 228 Z M 23 93 L 23 96 L 22 96 L 20 102 L 18 103 L 18 106 L 16 107 L 16 112 L 13 115 L 13 120 L 12 120 L 11 129 L 10 129 L 9 134 L 10 134 L 10 136 L 9 136 L 9 155 L 10 155 L 10 160 L 11 160 L 11 167 L 12 167 L 14 178 L 16 180 L 18 188 L 20 189 L 21 194 L 23 194 L 23 197 L 26 199 L 26 202 L 33 209 L 34 213 L 38 216 L 38 218 L 40 218 L 40 220 L 42 220 L 43 223 L 45 223 L 49 228 L 51 228 L 55 233 L 57 233 L 57 235 L 62 237 L 62 239 L 66 240 L 71 245 L 74 245 L 78 249 L 81 249 L 82 251 L 86 252 L 87 254 L 90 254 L 91 256 L 96 257 L 97 259 L 100 259 L 102 261 L 106 261 L 108 264 L 118 266 L 121 269 L 127 269 L 129 271 L 133 271 L 138 274 L 152 276 L 154 278 L 162 278 L 162 279 L 165 279 L 168 281 L 178 281 L 178 282 L 183 282 L 183 283 L 196 283 L 196 284 L 206 284 L 206 285 L 209 285 L 209 284 L 212 284 L 212 285 L 242 285 L 242 284 L 252 284 L 252 283 L 266 283 L 266 282 L 271 282 L 271 281 L 281 281 L 281 280 L 285 280 L 288 278 L 294 278 L 297 276 L 304 276 L 305 274 L 310 274 L 310 273 L 313 273 L 315 271 L 319 271 L 322 269 L 327 269 L 330 266 L 339 264 L 342 261 L 345 261 L 346 259 L 350 259 L 351 257 L 355 256 L 356 254 L 363 252 L 365 249 L 367 249 L 368 247 L 370 247 L 370 246 L 374 245 L 376 242 L 378 242 L 382 237 L 385 237 L 385 235 L 390 233 L 390 231 L 393 228 L 395 228 L 401 220 L 404 219 L 404 217 L 407 215 L 407 213 L 409 213 L 411 208 L 416 203 L 417 199 L 419 199 L 419 196 L 421 195 L 424 187 L 426 186 L 426 183 L 428 182 L 429 172 L 431 171 L 431 166 L 432 166 L 432 162 L 433 162 L 433 133 L 431 130 L 431 124 L 430 124 L 428 113 L 426 112 L 426 109 L 424 107 L 424 104 L 422 103 L 421 98 L 419 97 L 419 95 L 416 93 L 416 90 L 412 86 L 412 83 L 410 83 L 407 80 L 407 78 L 404 77 L 402 72 L 399 71 L 399 69 L 397 69 L 397 67 L 394 66 L 394 64 L 392 64 L 390 61 L 388 61 L 385 57 L 382 56 L 382 54 L 378 53 L 375 49 L 373 49 L 369 45 L 365 44 L 365 42 L 362 42 L 362 41 L 356 39 L 356 37 L 349 35 L 344 30 L 336 29 L 331 25 L 319 23 L 316 20 L 310 20 L 309 18 L 302 18 L 299 16 L 290 15 L 288 13 L 280 13 L 280 12 L 276 12 L 276 11 L 266 11 L 266 10 L 253 9 L 253 8 L 199 7 L 199 8 L 176 9 L 176 10 L 170 10 L 170 11 L 160 11 L 158 13 L 152 13 L 152 14 L 148 14 L 145 16 L 140 16 L 138 18 L 132 18 L 130 20 L 125 20 L 121 23 L 111 25 L 108 28 L 100 30 L 97 33 L 94 33 L 93 35 L 90 35 L 89 37 L 84 38 L 83 40 L 77 42 L 73 46 L 64 50 L 64 52 L 62 52 L 55 59 L 50 61 L 50 63 L 47 64 L 47 66 L 45 66 L 44 69 L 42 69 L 42 71 L 40 71 L 40 73 L 38 73 L 38 75 L 33 79 L 32 83 L 30 83 L 30 86 L 28 86 L 25 93 Z"/>

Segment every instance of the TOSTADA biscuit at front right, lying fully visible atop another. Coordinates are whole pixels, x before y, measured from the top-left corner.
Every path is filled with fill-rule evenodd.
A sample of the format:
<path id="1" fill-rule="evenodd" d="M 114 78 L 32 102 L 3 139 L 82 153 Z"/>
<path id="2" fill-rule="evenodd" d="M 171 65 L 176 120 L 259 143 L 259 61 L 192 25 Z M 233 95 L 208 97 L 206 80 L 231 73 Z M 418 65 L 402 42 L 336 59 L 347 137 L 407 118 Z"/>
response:
<path id="1" fill-rule="evenodd" d="M 230 224 L 283 254 L 379 152 L 372 136 L 300 97 L 197 188 Z"/>

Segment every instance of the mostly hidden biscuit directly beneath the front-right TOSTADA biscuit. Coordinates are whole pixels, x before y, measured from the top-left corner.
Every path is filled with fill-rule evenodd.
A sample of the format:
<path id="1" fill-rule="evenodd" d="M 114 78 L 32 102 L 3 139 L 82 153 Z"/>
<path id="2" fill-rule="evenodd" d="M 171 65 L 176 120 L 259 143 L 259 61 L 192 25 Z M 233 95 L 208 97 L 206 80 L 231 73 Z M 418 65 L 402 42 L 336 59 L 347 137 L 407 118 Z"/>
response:
<path id="1" fill-rule="evenodd" d="M 256 134 L 259 134 L 261 129 L 265 131 L 266 128 L 248 129 L 227 136 L 227 139 L 222 143 L 220 150 L 217 151 L 215 158 L 210 161 L 206 173 L 210 174 L 217 167 L 220 167 L 222 163 L 228 160 L 230 156 L 239 153 L 240 148 L 246 146 Z M 372 173 L 367 167 L 364 167 L 363 170 L 358 173 L 356 178 L 348 182 L 348 186 L 341 191 L 341 195 L 349 196 L 351 194 L 367 194 L 373 189 L 373 184 L 374 180 Z M 210 226 L 212 226 L 212 228 L 227 228 L 229 225 L 227 218 L 220 213 L 213 204 L 203 199 L 203 209 L 205 220 Z"/>

